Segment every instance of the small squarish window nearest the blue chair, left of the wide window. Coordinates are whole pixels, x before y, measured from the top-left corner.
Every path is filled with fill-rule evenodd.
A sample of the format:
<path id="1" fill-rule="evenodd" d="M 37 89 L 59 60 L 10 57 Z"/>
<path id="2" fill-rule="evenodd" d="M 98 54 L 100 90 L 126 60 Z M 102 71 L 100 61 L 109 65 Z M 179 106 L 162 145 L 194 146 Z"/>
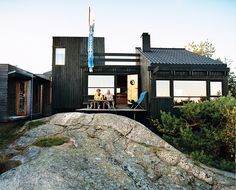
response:
<path id="1" fill-rule="evenodd" d="M 170 96 L 170 81 L 169 80 L 156 80 L 156 96 L 157 97 Z"/>

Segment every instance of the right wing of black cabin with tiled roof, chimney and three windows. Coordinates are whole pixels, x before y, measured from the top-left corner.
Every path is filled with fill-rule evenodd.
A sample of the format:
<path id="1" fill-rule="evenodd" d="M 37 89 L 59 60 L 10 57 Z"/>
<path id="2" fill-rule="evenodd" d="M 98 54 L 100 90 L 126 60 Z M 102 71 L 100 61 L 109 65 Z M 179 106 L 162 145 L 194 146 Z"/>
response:
<path id="1" fill-rule="evenodd" d="M 228 93 L 226 64 L 184 48 L 151 48 L 150 35 L 143 33 L 140 54 L 141 89 L 149 92 L 146 107 L 152 117 L 160 111 L 179 114 L 186 102 L 211 100 Z"/>

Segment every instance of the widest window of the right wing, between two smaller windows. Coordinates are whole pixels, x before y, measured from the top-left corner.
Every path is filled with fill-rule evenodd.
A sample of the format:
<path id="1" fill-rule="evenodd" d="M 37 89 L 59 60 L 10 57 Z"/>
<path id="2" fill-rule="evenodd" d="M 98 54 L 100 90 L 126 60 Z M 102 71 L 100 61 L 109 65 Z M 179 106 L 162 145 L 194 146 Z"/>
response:
<path id="1" fill-rule="evenodd" d="M 175 105 L 206 99 L 206 81 L 174 81 Z"/>

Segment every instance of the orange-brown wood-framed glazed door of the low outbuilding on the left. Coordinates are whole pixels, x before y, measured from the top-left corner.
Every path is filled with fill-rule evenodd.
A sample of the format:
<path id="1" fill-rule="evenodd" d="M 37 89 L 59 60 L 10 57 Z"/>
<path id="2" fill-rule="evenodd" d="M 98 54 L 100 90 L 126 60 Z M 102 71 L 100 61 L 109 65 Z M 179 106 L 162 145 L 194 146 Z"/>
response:
<path id="1" fill-rule="evenodd" d="M 26 81 L 16 82 L 16 115 L 26 115 L 27 104 L 27 83 Z"/>

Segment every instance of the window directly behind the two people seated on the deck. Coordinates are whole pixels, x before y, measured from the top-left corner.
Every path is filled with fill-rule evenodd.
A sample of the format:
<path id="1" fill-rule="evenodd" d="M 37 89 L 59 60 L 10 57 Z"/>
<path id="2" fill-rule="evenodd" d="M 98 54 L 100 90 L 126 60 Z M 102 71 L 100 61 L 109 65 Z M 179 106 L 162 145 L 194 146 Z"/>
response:
<path id="1" fill-rule="evenodd" d="M 105 94 L 110 90 L 114 95 L 114 76 L 113 75 L 89 75 L 88 76 L 88 95 L 94 95 L 96 90 L 101 89 Z"/>

